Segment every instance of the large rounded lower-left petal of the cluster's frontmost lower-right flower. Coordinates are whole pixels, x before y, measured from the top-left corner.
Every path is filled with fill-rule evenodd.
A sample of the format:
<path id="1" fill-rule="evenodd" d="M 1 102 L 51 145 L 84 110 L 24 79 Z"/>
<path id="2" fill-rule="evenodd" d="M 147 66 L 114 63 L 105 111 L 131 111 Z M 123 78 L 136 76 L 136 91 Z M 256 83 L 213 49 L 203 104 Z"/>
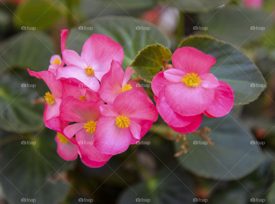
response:
<path id="1" fill-rule="evenodd" d="M 120 154 L 126 151 L 133 139 L 129 128 L 116 125 L 115 117 L 101 116 L 95 127 L 95 148 L 104 154 Z"/>

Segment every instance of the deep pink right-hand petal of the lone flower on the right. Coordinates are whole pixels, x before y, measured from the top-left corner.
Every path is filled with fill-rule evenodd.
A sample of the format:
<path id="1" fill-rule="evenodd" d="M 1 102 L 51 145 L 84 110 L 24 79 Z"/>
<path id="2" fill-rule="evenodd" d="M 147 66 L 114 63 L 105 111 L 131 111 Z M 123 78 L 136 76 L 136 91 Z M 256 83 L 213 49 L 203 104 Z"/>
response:
<path id="1" fill-rule="evenodd" d="M 234 93 L 229 84 L 219 81 L 220 85 L 215 88 L 213 103 L 206 112 L 214 117 L 222 117 L 230 112 L 234 105 Z"/>

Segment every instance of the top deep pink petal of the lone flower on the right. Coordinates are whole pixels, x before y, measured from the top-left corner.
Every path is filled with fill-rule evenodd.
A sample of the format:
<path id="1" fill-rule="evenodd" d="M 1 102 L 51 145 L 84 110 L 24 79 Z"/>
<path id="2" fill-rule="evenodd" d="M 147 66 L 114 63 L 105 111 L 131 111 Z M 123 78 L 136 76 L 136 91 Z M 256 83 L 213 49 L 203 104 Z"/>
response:
<path id="1" fill-rule="evenodd" d="M 216 59 L 196 48 L 182 47 L 174 52 L 172 63 L 176 69 L 201 75 L 209 73 L 211 66 L 216 63 Z"/>

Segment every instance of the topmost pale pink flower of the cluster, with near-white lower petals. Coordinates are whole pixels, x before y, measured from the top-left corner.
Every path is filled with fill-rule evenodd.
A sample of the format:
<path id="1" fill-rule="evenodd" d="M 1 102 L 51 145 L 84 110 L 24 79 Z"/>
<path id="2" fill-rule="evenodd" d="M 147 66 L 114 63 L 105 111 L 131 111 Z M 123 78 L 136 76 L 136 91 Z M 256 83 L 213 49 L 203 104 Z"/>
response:
<path id="1" fill-rule="evenodd" d="M 62 55 L 67 66 L 57 69 L 56 79 L 82 83 L 93 91 L 98 91 L 99 81 L 110 70 L 112 60 L 121 63 L 124 57 L 119 43 L 99 34 L 93 34 L 84 43 L 80 56 L 74 50 L 64 50 Z"/>

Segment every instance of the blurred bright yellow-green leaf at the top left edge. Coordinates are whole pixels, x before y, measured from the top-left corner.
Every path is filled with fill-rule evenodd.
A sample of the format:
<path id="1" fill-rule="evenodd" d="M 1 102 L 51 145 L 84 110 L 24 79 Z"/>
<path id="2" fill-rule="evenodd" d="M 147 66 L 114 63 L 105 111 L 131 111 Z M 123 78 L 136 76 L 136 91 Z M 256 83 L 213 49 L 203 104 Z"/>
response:
<path id="1" fill-rule="evenodd" d="M 18 27 L 45 29 L 53 26 L 64 11 L 66 9 L 60 1 L 25 0 L 17 6 L 13 20 Z"/>

